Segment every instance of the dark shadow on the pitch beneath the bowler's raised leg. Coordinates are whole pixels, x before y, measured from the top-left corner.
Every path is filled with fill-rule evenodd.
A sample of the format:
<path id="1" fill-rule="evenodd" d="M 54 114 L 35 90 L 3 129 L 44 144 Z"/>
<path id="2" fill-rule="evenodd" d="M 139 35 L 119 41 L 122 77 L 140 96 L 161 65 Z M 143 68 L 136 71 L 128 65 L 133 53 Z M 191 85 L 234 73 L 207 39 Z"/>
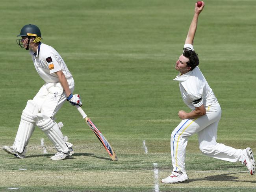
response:
<path id="1" fill-rule="evenodd" d="M 245 172 L 236 172 L 236 173 L 207 176 L 207 177 L 198 178 L 198 179 L 189 179 L 187 183 L 194 182 L 194 181 L 232 181 L 232 182 L 256 183 L 256 181 L 239 180 L 239 177 L 233 176 L 233 174 L 241 174 L 241 173 L 245 173 Z"/>

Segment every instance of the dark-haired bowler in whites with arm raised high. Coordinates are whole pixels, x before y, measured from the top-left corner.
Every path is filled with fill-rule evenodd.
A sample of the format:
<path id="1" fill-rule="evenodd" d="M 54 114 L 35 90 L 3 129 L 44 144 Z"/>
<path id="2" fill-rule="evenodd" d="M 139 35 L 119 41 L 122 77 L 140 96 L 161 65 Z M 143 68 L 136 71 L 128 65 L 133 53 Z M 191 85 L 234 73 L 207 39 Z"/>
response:
<path id="1" fill-rule="evenodd" d="M 180 183 L 189 179 L 185 168 L 186 146 L 189 136 L 197 133 L 199 148 L 204 155 L 230 162 L 242 162 L 251 175 L 255 174 L 255 161 L 250 148 L 234 149 L 217 143 L 218 123 L 221 119 L 221 107 L 202 72 L 198 68 L 199 59 L 194 51 L 193 41 L 197 30 L 198 16 L 204 8 L 195 5 L 193 16 L 182 55 L 176 61 L 175 69 L 184 103 L 192 110 L 189 113 L 179 111 L 182 121 L 171 134 L 171 157 L 173 172 L 162 179 L 162 183 Z"/>

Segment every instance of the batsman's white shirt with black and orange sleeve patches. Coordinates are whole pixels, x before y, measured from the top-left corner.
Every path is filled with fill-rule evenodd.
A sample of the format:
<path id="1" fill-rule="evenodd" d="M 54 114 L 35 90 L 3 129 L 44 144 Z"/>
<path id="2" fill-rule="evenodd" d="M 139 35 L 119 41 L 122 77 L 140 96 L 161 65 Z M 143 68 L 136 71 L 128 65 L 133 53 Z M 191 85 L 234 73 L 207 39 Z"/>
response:
<path id="1" fill-rule="evenodd" d="M 37 54 L 35 54 L 32 50 L 29 52 L 32 56 L 37 73 L 46 83 L 59 82 L 59 78 L 55 72 L 60 70 L 62 70 L 66 78 L 72 77 L 72 74 L 67 68 L 67 65 L 63 61 L 62 57 L 51 46 L 39 42 Z"/>

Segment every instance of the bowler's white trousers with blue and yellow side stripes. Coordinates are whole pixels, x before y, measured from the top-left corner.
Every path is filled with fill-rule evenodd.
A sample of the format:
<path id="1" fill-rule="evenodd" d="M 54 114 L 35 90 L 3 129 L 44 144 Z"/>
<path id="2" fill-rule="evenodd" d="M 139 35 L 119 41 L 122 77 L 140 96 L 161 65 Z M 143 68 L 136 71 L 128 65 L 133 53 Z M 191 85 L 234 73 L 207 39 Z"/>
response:
<path id="1" fill-rule="evenodd" d="M 203 154 L 224 161 L 238 162 L 242 150 L 217 143 L 218 123 L 221 119 L 219 103 L 206 108 L 206 115 L 195 119 L 185 119 L 174 129 L 171 135 L 171 155 L 173 171 L 186 173 L 185 157 L 187 139 L 197 133 L 199 148 Z"/>

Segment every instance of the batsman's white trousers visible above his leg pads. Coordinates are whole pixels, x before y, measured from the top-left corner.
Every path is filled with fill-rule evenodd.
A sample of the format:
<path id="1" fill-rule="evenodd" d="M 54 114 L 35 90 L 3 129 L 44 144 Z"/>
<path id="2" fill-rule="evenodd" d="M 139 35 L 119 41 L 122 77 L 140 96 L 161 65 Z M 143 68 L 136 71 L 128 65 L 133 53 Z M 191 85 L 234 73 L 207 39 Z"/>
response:
<path id="1" fill-rule="evenodd" d="M 74 91 L 74 79 L 67 78 L 71 92 Z M 40 113 L 53 118 L 65 103 L 67 96 L 63 91 L 61 83 L 45 83 L 33 98 Z"/>

